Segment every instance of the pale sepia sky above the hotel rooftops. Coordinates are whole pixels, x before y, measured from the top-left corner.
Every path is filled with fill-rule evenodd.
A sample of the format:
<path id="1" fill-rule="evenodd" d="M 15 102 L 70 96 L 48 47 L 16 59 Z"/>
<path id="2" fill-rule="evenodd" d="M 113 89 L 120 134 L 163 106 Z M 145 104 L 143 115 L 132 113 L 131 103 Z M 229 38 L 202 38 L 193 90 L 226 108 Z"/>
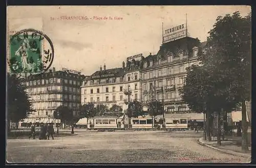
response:
<path id="1" fill-rule="evenodd" d="M 36 29 L 54 46 L 51 67 L 68 68 L 91 75 L 103 64 L 122 66 L 135 54 L 156 54 L 163 30 L 184 24 L 188 35 L 206 41 L 218 16 L 239 11 L 246 16 L 250 6 L 8 6 L 7 34 Z M 83 16 L 86 19 L 69 19 Z M 108 20 L 96 18 L 106 17 Z M 109 18 L 113 19 L 110 20 Z M 122 19 L 115 19 L 122 18 Z M 63 19 L 65 18 L 65 19 Z"/>

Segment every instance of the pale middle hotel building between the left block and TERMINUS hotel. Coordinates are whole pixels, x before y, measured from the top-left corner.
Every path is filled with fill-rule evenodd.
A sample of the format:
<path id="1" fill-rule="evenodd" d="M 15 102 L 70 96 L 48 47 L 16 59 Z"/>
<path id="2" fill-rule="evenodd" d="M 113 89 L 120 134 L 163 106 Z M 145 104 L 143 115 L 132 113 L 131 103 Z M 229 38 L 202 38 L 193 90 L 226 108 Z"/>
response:
<path id="1" fill-rule="evenodd" d="M 99 71 L 87 77 L 81 86 L 81 104 L 93 102 L 111 108 L 114 104 L 127 109 L 127 102 L 140 100 L 140 62 L 126 61 L 121 68 L 106 69 L 100 66 Z"/>

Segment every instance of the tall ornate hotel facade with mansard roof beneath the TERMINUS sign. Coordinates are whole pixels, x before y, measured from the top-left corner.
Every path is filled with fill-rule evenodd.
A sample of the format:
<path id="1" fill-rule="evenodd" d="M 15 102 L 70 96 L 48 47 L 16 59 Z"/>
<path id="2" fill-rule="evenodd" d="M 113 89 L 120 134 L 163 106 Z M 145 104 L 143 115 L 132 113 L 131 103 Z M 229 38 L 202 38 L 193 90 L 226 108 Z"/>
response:
<path id="1" fill-rule="evenodd" d="M 165 113 L 193 113 L 179 94 L 186 77 L 186 68 L 198 65 L 197 53 L 206 42 L 184 37 L 164 43 L 155 55 L 143 59 L 142 104 L 144 109 L 152 98 L 164 104 Z"/>

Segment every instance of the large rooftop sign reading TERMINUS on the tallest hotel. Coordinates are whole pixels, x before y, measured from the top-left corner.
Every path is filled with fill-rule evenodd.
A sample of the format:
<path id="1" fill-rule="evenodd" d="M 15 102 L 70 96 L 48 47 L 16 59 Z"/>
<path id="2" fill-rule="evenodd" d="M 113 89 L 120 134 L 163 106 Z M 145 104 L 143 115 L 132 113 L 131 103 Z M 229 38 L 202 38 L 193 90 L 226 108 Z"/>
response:
<path id="1" fill-rule="evenodd" d="M 174 41 L 186 37 L 187 27 L 186 24 L 181 24 L 171 29 L 167 29 L 163 33 L 163 43 Z"/>

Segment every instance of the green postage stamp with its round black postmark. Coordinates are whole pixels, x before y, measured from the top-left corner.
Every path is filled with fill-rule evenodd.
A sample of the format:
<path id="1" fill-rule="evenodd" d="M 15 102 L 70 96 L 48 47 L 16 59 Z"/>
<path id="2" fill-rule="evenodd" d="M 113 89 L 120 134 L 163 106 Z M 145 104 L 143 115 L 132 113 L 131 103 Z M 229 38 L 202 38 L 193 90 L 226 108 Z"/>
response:
<path id="1" fill-rule="evenodd" d="M 54 49 L 47 35 L 34 29 L 25 29 L 9 37 L 8 64 L 11 73 L 35 74 L 50 68 Z"/>

